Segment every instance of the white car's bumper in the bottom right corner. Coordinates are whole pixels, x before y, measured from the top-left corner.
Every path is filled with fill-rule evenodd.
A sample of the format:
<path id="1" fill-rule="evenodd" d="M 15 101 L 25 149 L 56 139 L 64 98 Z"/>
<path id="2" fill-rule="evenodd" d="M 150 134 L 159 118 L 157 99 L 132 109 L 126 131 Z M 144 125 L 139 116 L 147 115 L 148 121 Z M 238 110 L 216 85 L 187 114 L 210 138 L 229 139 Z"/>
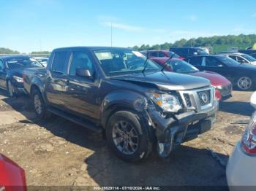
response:
<path id="1" fill-rule="evenodd" d="M 227 184 L 230 190 L 256 190 L 256 156 L 246 155 L 239 141 L 227 164 Z"/>

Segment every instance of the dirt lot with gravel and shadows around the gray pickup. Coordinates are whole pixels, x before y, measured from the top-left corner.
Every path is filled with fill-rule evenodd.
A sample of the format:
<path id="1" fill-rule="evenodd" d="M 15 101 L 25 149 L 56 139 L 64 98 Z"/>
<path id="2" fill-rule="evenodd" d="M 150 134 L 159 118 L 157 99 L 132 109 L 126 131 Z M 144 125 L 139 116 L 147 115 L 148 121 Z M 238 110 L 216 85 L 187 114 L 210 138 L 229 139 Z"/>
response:
<path id="1" fill-rule="evenodd" d="M 29 185 L 225 186 L 228 156 L 253 112 L 250 95 L 234 91 L 220 104 L 214 128 L 167 160 L 153 153 L 132 164 L 118 160 L 101 134 L 61 117 L 37 121 L 28 97 L 7 98 L 0 90 L 0 152 L 25 169 Z"/>

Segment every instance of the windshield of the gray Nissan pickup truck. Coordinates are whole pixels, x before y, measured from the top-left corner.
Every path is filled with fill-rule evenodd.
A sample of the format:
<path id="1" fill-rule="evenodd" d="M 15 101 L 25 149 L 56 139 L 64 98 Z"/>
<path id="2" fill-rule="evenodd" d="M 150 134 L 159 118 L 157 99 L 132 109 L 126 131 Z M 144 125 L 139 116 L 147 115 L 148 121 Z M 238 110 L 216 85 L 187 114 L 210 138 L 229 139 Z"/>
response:
<path id="1" fill-rule="evenodd" d="M 107 76 L 142 72 L 146 57 L 132 50 L 97 50 L 94 51 Z M 151 60 L 147 61 L 146 71 L 158 71 L 161 67 Z"/>

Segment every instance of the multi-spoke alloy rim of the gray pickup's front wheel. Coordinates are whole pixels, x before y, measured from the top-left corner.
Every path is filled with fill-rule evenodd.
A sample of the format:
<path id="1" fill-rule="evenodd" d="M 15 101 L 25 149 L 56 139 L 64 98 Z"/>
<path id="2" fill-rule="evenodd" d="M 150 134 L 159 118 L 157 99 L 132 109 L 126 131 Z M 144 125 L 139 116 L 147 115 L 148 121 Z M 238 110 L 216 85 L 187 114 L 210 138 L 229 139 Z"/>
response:
<path id="1" fill-rule="evenodd" d="M 138 132 L 126 121 L 115 123 L 112 131 L 113 142 L 116 148 L 125 155 L 132 155 L 138 149 Z"/>

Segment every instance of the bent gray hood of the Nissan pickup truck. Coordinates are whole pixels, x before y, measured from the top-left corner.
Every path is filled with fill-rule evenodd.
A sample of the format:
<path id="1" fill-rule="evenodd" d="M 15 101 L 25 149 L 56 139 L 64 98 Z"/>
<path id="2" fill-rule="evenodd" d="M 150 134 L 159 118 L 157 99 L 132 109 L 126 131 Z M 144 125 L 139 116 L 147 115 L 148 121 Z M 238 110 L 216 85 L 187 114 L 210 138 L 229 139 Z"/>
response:
<path id="1" fill-rule="evenodd" d="M 211 85 L 208 79 L 193 77 L 187 74 L 177 74 L 168 71 L 155 73 L 129 74 L 119 77 L 111 77 L 126 82 L 144 82 L 157 85 L 159 90 L 190 90 Z"/>

